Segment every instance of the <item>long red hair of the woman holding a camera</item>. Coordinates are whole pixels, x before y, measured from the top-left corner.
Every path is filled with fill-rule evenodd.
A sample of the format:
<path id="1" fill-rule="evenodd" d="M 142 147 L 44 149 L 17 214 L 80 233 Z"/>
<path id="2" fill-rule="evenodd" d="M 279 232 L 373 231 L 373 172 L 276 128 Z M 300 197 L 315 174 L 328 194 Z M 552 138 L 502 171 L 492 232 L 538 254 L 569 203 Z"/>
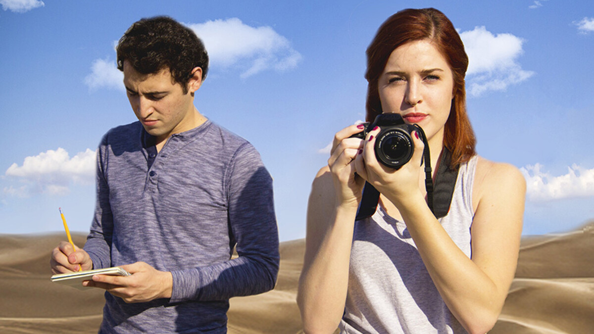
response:
<path id="1" fill-rule="evenodd" d="M 372 122 L 382 113 L 378 80 L 386 68 L 388 58 L 400 45 L 428 39 L 445 58 L 454 77 L 454 98 L 450 116 L 444 126 L 443 145 L 451 152 L 451 166 L 467 162 L 476 154 L 476 138 L 466 114 L 466 88 L 464 77 L 468 56 L 451 21 L 434 8 L 403 10 L 389 17 L 378 29 L 367 48 L 368 81 L 366 120 Z"/>

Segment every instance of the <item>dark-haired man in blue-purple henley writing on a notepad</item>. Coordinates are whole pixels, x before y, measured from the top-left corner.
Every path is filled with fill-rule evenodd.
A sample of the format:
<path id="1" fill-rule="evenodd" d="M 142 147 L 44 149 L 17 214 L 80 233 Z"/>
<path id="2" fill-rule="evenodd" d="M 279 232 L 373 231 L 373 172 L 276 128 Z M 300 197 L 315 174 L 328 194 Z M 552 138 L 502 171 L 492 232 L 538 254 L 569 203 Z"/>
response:
<path id="1" fill-rule="evenodd" d="M 132 274 L 83 283 L 107 291 L 100 332 L 225 333 L 229 298 L 276 282 L 271 177 L 248 141 L 194 107 L 208 56 L 190 29 L 143 19 L 117 53 L 138 122 L 103 137 L 87 242 L 76 250 L 61 242 L 52 272 Z M 234 246 L 239 257 L 230 259 Z"/>

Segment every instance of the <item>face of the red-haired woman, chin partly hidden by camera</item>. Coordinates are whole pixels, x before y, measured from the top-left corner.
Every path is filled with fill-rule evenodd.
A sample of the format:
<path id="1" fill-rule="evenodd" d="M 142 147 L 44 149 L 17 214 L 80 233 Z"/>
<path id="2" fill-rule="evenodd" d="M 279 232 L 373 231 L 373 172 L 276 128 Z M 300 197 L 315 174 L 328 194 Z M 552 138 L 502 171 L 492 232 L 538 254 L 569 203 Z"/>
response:
<path id="1" fill-rule="evenodd" d="M 443 142 L 453 89 L 450 65 L 429 40 L 394 49 L 378 80 L 383 112 L 421 125 L 428 140 L 438 143 Z"/>

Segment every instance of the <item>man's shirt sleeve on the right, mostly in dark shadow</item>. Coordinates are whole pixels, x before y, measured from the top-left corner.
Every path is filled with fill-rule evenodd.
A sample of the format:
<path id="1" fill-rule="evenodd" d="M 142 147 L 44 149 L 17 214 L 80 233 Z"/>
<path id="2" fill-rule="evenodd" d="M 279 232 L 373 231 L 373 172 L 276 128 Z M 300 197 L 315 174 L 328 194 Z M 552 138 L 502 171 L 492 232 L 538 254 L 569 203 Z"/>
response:
<path id="1" fill-rule="evenodd" d="M 230 243 L 237 258 L 210 266 L 173 271 L 172 303 L 226 300 L 274 288 L 279 239 L 272 179 L 249 144 L 238 149 L 226 171 Z"/>

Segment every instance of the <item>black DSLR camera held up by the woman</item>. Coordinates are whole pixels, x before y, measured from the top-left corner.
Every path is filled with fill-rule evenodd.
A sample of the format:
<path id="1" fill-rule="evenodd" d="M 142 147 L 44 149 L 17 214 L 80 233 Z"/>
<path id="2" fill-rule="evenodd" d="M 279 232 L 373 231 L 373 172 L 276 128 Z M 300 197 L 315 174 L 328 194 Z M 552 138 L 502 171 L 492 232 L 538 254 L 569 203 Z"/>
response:
<path id="1" fill-rule="evenodd" d="M 422 140 L 425 141 L 423 129 L 416 124 L 406 124 L 399 114 L 380 114 L 371 125 L 369 122 L 364 125 L 365 129 L 362 132 L 350 137 L 364 139 L 369 131 L 376 126 L 380 127 L 380 133 L 375 139 L 375 157 L 390 168 L 399 169 L 412 157 L 415 150 L 415 144 L 410 137 L 412 131 L 419 131 Z"/>

